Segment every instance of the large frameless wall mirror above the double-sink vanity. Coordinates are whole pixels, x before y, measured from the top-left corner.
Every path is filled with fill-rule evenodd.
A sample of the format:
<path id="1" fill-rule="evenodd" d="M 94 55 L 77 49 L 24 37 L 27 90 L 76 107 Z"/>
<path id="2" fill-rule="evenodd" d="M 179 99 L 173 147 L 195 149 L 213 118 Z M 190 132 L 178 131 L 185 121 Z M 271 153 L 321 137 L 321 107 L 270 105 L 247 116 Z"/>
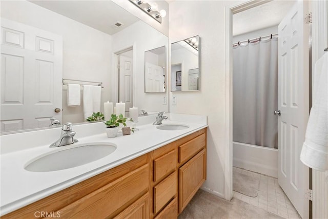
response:
<path id="1" fill-rule="evenodd" d="M 114 2 L 2 1 L 1 19 L 2 134 L 49 127 L 52 117 L 86 122 L 84 85 L 102 87 L 101 112 L 105 102 L 115 106 L 122 98 L 127 113 L 133 106 L 169 110 L 162 104 L 167 93 L 145 94 L 144 73 L 145 52 L 165 50 L 168 37 Z M 167 53 L 156 52 L 157 65 L 167 69 Z M 81 85 L 80 99 L 69 101 L 67 84 Z"/>

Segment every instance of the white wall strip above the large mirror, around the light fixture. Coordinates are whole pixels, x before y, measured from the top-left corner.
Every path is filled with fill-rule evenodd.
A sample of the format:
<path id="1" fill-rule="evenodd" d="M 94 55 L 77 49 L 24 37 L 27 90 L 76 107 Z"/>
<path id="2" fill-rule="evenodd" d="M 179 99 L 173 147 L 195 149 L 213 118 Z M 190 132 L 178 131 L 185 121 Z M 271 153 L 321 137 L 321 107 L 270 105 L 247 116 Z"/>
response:
<path id="1" fill-rule="evenodd" d="M 170 15 L 170 13 L 169 13 L 169 4 L 166 1 L 164 1 L 164 0 L 159 0 L 159 1 L 150 0 L 149 1 L 151 3 L 153 3 L 153 2 L 157 3 L 158 10 L 161 10 L 161 9 L 166 10 L 167 15 L 166 15 L 166 17 L 162 18 L 161 24 L 159 22 L 157 22 L 154 18 L 149 16 L 147 13 L 141 11 L 137 6 L 135 6 L 133 3 L 131 3 L 128 0 L 112 0 L 112 1 L 114 3 L 116 3 L 117 5 L 121 6 L 122 8 L 124 8 L 125 10 L 129 11 L 134 16 L 141 19 L 141 21 L 146 22 L 147 24 L 149 24 L 156 30 L 160 31 L 161 33 L 163 33 L 167 36 L 169 35 L 169 15 Z"/>

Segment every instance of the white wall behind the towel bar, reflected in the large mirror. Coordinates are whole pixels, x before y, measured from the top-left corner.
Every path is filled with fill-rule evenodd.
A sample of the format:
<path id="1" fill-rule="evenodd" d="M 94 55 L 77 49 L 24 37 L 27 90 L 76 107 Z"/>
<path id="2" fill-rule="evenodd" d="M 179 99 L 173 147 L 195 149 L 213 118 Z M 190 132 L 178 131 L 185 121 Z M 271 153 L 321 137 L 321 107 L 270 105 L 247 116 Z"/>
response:
<path id="1" fill-rule="evenodd" d="M 63 36 L 63 78 L 103 82 L 101 103 L 110 100 L 110 35 L 27 1 L 2 1 L 1 17 Z M 67 86 L 63 86 L 63 110 L 64 123 L 84 121 L 82 102 L 67 107 Z"/>

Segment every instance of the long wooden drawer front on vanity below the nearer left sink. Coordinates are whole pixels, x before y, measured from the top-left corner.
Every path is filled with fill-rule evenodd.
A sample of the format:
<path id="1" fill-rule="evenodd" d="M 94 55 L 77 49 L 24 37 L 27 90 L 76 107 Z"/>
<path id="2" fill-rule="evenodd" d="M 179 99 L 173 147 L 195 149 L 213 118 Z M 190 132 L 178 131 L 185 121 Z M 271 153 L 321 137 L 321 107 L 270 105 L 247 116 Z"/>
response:
<path id="1" fill-rule="evenodd" d="M 146 164 L 58 211 L 63 218 L 112 217 L 145 194 L 148 188 L 149 164 Z"/>

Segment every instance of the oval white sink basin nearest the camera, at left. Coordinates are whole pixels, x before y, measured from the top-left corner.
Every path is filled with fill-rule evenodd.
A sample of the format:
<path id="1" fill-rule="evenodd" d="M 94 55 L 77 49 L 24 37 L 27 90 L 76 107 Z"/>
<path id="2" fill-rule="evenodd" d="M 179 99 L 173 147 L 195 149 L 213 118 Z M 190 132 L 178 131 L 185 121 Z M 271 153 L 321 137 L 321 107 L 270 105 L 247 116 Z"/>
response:
<path id="1" fill-rule="evenodd" d="M 62 146 L 65 147 L 65 146 Z M 60 147 L 60 148 L 62 148 Z M 31 172 L 50 172 L 64 170 L 97 161 L 116 150 L 108 143 L 93 143 L 64 149 L 35 158 L 28 162 L 25 169 Z"/>

